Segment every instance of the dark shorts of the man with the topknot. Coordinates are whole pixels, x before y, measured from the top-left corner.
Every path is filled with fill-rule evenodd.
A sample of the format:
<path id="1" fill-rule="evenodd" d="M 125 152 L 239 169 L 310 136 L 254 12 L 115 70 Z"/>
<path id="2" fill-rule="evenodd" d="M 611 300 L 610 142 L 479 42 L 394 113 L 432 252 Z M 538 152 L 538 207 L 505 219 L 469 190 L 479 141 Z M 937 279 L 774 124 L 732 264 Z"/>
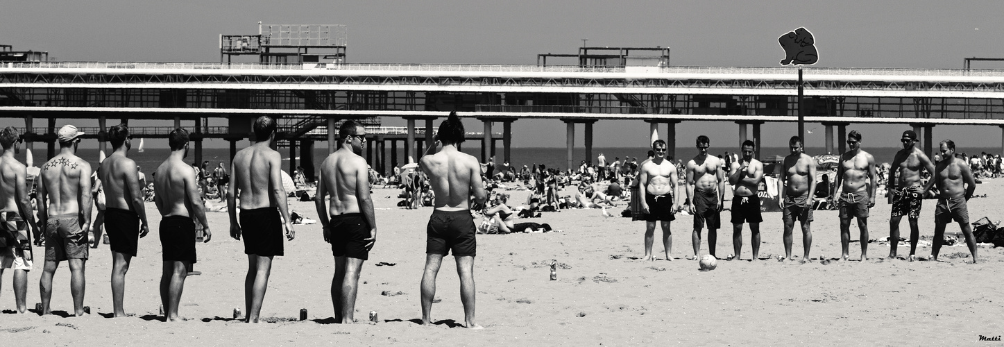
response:
<path id="1" fill-rule="evenodd" d="M 426 228 L 426 254 L 446 256 L 451 251 L 454 257 L 474 257 L 477 231 L 470 211 L 435 210 Z"/>

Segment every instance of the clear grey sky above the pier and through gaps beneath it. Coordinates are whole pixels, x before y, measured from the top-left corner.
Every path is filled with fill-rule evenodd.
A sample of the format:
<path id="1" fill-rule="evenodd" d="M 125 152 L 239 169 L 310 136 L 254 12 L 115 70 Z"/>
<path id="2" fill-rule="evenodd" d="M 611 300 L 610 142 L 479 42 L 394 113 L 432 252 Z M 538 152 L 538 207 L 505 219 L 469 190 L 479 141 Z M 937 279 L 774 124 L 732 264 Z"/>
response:
<path id="1" fill-rule="evenodd" d="M 589 46 L 669 46 L 673 65 L 777 66 L 783 58 L 777 37 L 800 26 L 815 36 L 817 66 L 960 68 L 964 57 L 1004 57 L 1000 0 L 5 0 L 0 7 L 0 44 L 48 51 L 60 61 L 219 61 L 219 34 L 257 34 L 258 21 L 345 24 L 349 62 L 533 64 L 537 53 L 574 53 L 584 38 Z M 404 122 L 388 118 L 385 124 Z M 0 119 L 0 125 L 23 122 Z M 474 120 L 468 126 L 481 128 Z M 648 126 L 599 121 L 593 144 L 645 145 Z M 822 127 L 806 124 L 817 126 L 806 138 L 810 145 L 821 145 Z M 850 128 L 860 128 L 871 145 L 897 146 L 905 126 Z M 764 145 L 783 146 L 794 130 L 794 124 L 767 123 Z M 517 121 L 513 131 L 514 145 L 564 146 L 558 120 Z M 678 144 L 691 145 L 690 134 L 731 139 L 737 126 L 688 121 L 677 131 Z M 581 145 L 581 126 L 576 132 Z M 934 136 L 957 138 L 960 145 L 1001 143 L 997 126 L 938 126 Z"/>

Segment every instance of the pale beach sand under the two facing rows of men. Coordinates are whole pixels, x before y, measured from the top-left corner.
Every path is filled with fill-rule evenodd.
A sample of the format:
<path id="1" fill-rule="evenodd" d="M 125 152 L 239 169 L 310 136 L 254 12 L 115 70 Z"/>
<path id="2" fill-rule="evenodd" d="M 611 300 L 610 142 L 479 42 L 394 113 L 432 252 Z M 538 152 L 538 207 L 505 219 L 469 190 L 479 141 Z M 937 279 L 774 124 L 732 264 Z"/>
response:
<path id="1" fill-rule="evenodd" d="M 1004 180 L 977 187 L 989 198 L 970 201 L 970 218 L 1001 219 Z M 509 192 L 515 201 L 525 192 Z M 530 220 L 548 223 L 560 233 L 478 237 L 475 262 L 477 320 L 486 329 L 462 328 L 463 309 L 452 257 L 444 261 L 434 305 L 436 325 L 424 327 L 419 282 L 425 262 L 425 228 L 431 208 L 397 208 L 397 190 L 373 192 L 379 234 L 362 270 L 355 313 L 365 320 L 379 312 L 380 323 L 332 324 L 329 296 L 333 260 L 319 225 L 296 226 L 296 240 L 286 256 L 276 258 L 262 308 L 264 323 L 231 319 L 244 310 L 243 281 L 247 258 L 243 245 L 229 237 L 228 217 L 209 214 L 214 238 L 198 246 L 201 276 L 186 282 L 181 315 L 190 320 L 164 323 L 158 316 L 161 251 L 157 228 L 140 242 L 140 256 L 127 276 L 126 310 L 135 317 L 110 319 L 110 255 L 106 245 L 92 250 L 87 262 L 85 305 L 94 315 L 66 317 L 72 311 L 69 270 L 61 264 L 54 280 L 56 315 L 33 313 L 39 302 L 41 262 L 29 274 L 25 315 L 13 314 L 11 275 L 0 290 L 0 339 L 9 345 L 960 345 L 978 343 L 980 335 L 1004 333 L 1004 249 L 981 246 L 981 263 L 966 264 L 964 247 L 942 249 L 944 262 L 883 260 L 888 246 L 870 244 L 870 259 L 822 265 L 819 255 L 840 253 L 837 213 L 816 212 L 813 261 L 779 263 L 783 255 L 780 213 L 764 214 L 761 258 L 749 262 L 749 231 L 744 233 L 743 261 L 719 261 L 718 269 L 699 272 L 684 257 L 691 251 L 690 216 L 673 224 L 674 261 L 643 262 L 644 223 L 603 218 L 599 210 L 544 213 Z M 626 203 L 611 212 L 622 210 Z M 290 202 L 292 210 L 316 219 L 313 203 Z M 154 205 L 148 204 L 157 226 Z M 871 210 L 870 239 L 889 236 L 890 206 Z M 723 220 L 728 221 L 728 213 Z M 934 201 L 925 201 L 921 235 L 934 230 Z M 727 223 L 726 223 L 727 224 Z M 723 225 L 725 227 L 725 225 Z M 907 221 L 903 236 L 909 237 Z M 950 225 L 948 232 L 958 232 Z M 657 231 L 655 253 L 663 247 Z M 717 254 L 733 253 L 731 226 L 719 231 Z M 856 241 L 856 229 L 851 240 Z M 708 251 L 707 238 L 702 254 Z M 802 254 L 796 232 L 793 253 Z M 41 255 L 42 249 L 36 249 Z M 909 254 L 909 246 L 900 248 Z M 918 255 L 930 254 L 921 247 Z M 852 243 L 856 259 L 859 244 Z M 39 258 L 41 258 L 39 256 Z M 557 281 L 549 263 L 559 263 Z M 394 266 L 376 266 L 378 263 Z M 392 295 L 382 295 L 383 292 Z M 400 295 L 397 295 L 401 292 Z M 299 310 L 309 311 L 299 322 Z"/>

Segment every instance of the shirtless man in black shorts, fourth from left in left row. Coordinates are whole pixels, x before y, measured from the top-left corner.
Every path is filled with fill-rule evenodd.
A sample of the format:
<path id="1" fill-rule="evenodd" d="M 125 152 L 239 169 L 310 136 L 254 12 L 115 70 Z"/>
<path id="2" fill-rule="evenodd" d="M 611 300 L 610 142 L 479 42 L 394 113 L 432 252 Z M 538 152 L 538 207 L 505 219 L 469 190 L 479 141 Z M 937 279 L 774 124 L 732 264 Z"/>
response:
<path id="1" fill-rule="evenodd" d="M 188 155 L 189 133 L 177 128 L 168 135 L 171 154 L 154 171 L 154 204 L 161 213 L 161 250 L 164 256 L 161 272 L 161 304 L 164 321 L 174 322 L 185 289 L 188 269 L 196 263 L 196 230 L 193 219 L 203 226 L 203 243 L 209 242 L 213 233 L 206 221 L 206 208 L 199 199 L 199 183 L 195 170 L 185 163 Z"/>

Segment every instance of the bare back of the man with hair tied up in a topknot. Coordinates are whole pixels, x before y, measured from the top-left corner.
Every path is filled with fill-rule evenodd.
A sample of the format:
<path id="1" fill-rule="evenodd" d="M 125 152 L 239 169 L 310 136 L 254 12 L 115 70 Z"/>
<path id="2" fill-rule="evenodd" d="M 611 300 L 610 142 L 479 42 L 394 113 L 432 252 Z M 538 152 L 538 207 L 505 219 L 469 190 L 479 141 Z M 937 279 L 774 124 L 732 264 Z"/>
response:
<path id="1" fill-rule="evenodd" d="M 423 156 L 419 164 L 436 193 L 436 210 L 470 210 L 472 190 L 479 201 L 484 201 L 480 162 L 456 146 L 447 145 L 435 154 Z"/>

